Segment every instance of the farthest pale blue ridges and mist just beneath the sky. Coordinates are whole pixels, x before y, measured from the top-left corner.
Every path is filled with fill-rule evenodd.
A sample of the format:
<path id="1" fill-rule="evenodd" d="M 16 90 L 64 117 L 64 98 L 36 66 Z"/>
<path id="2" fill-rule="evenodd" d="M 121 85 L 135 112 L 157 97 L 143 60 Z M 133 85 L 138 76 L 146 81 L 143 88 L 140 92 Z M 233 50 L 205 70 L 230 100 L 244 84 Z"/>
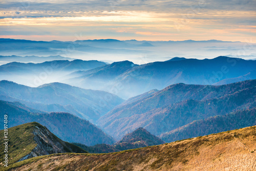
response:
<path id="1" fill-rule="evenodd" d="M 0 54 L 5 56 L 63 56 L 84 60 L 130 60 L 137 64 L 164 61 L 173 57 L 212 58 L 220 55 L 255 58 L 255 44 L 239 41 L 184 40 L 184 41 L 138 41 L 117 39 L 83 40 L 76 36 L 74 41 L 33 41 L 23 39 L 0 39 Z"/>

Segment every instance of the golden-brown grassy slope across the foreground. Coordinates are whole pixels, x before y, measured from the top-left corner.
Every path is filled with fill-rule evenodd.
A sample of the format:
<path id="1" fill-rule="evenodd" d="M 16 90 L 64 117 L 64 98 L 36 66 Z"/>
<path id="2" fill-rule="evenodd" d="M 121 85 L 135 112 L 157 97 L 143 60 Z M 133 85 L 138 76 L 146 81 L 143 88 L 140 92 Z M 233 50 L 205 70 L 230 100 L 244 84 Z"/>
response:
<path id="1" fill-rule="evenodd" d="M 110 154 L 40 156 L 4 170 L 255 170 L 255 135 L 251 126 Z"/>

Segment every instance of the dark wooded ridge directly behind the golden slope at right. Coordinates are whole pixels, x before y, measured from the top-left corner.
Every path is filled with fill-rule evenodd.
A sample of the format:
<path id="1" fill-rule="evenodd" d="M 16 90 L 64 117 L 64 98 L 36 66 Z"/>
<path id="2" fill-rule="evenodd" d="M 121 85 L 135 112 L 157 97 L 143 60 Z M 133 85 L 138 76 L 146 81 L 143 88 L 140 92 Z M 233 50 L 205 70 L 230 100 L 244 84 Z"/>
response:
<path id="1" fill-rule="evenodd" d="M 255 113 L 256 108 L 196 120 L 173 131 L 163 133 L 159 137 L 166 142 L 173 142 L 186 138 L 240 129 L 241 127 L 256 125 Z"/>

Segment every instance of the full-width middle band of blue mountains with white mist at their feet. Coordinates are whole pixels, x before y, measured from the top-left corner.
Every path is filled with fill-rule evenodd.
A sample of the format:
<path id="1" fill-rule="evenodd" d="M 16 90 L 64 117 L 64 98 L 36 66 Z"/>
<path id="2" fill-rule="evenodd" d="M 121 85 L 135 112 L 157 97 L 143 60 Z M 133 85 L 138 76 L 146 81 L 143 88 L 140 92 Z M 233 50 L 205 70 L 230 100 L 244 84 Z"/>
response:
<path id="1" fill-rule="evenodd" d="M 128 99 L 175 83 L 221 85 L 256 79 L 255 66 L 256 60 L 226 56 L 203 60 L 175 57 L 143 65 L 127 60 L 111 64 L 79 59 L 43 63 L 11 62 L 0 66 L 0 79 L 29 87 L 62 82 Z"/>

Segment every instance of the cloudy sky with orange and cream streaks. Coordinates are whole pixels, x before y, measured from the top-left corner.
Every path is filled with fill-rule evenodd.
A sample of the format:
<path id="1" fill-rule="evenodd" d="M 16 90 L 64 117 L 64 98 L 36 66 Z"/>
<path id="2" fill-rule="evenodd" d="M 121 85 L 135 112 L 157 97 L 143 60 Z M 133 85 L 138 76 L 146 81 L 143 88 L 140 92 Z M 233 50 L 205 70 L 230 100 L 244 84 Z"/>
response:
<path id="1" fill-rule="evenodd" d="M 256 0 L 0 1 L 0 37 L 256 42 Z"/>

